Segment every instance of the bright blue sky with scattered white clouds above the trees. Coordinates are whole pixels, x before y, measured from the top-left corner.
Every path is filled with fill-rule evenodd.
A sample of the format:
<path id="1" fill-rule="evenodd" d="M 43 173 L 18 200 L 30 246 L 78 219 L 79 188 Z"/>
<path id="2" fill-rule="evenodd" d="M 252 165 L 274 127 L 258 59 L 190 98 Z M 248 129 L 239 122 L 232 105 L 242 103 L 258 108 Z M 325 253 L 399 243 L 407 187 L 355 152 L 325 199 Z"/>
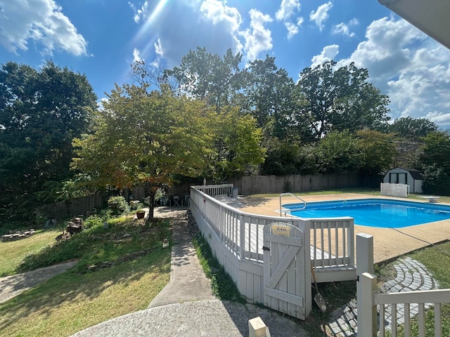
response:
<path id="1" fill-rule="evenodd" d="M 46 60 L 86 74 L 99 100 L 130 65 L 172 68 L 206 47 L 305 68 L 355 62 L 389 95 L 390 117 L 450 128 L 450 51 L 377 0 L 0 0 L 0 63 Z"/>

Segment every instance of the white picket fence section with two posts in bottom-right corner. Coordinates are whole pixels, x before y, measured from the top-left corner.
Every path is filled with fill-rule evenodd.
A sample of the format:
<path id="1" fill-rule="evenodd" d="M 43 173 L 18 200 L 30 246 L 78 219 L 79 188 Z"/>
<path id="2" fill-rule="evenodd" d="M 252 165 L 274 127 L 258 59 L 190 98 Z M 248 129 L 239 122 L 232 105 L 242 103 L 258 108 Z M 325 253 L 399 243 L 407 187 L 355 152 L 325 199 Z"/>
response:
<path id="1" fill-rule="evenodd" d="M 390 336 L 397 336 L 397 315 L 404 315 L 404 336 L 411 333 L 411 318 L 417 316 L 418 335 L 425 337 L 425 305 L 432 304 L 434 310 L 434 336 L 442 337 L 443 303 L 450 303 L 450 289 L 430 291 L 404 291 L 399 293 L 380 293 L 377 291 L 377 277 L 373 275 L 373 237 L 358 234 L 356 237 L 358 256 L 357 275 L 359 282 L 356 286 L 358 308 L 358 336 L 385 336 L 385 322 L 388 312 L 392 312 L 390 321 Z M 390 306 L 391 310 L 386 310 Z M 379 319 L 377 319 L 379 313 Z M 379 324 L 378 324 L 379 321 Z"/>

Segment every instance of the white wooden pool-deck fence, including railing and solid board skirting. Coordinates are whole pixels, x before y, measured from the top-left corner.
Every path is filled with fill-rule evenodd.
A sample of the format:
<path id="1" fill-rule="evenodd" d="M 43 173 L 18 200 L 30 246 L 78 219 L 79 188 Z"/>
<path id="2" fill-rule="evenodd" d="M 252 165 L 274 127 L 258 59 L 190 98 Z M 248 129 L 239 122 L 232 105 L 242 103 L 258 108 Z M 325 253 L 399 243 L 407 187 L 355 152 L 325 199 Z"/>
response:
<path id="1" fill-rule="evenodd" d="M 260 216 L 234 209 L 210 195 L 231 195 L 232 188 L 233 185 L 191 187 L 191 211 L 214 255 L 231 275 L 240 293 L 247 298 L 248 302 L 266 303 L 266 297 L 271 296 L 272 299 L 269 302 L 276 303 L 274 309 L 306 319 L 312 305 L 311 263 L 318 271 L 317 282 L 356 279 L 352 218 L 307 220 Z M 264 265 L 264 257 L 267 260 L 268 254 L 278 251 L 276 249 L 270 251 L 268 246 L 264 246 L 264 228 L 267 232 L 267 226 L 274 223 L 282 223 L 300 230 L 300 232 L 293 230 L 292 232 L 296 232 L 295 238 L 290 240 L 296 242 L 297 246 L 293 244 L 294 248 L 288 247 L 281 252 L 286 256 L 292 256 L 294 260 L 304 256 L 300 261 L 300 266 L 304 270 L 297 270 L 296 275 L 296 277 L 301 275 L 302 279 L 293 282 L 278 275 L 279 280 L 284 284 L 307 285 L 304 293 L 289 293 L 288 296 L 281 296 L 276 301 L 273 299 L 274 293 L 288 292 L 289 286 L 286 286 L 286 289 L 283 289 L 283 286 L 274 286 L 273 277 L 270 280 L 264 280 L 264 272 L 266 275 L 274 275 L 270 274 L 270 270 L 269 272 L 264 270 L 268 267 L 267 263 Z M 266 242 L 270 240 L 266 239 Z M 306 249 L 307 253 L 302 255 L 302 249 Z M 268 289 L 268 285 L 271 289 Z M 284 303 L 289 298 L 294 298 L 295 304 Z"/>

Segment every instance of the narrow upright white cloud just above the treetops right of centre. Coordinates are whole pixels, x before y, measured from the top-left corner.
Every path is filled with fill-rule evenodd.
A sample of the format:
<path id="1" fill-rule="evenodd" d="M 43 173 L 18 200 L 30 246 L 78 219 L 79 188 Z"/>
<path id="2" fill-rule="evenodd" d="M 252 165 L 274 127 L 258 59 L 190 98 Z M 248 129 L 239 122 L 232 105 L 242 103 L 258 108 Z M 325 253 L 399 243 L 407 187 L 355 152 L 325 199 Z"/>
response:
<path id="1" fill-rule="evenodd" d="M 272 48 L 271 31 L 264 27 L 266 22 L 271 22 L 269 15 L 250 10 L 250 29 L 242 33 L 245 39 L 244 50 L 247 53 L 247 60 L 255 60 L 262 51 L 269 51 Z"/>

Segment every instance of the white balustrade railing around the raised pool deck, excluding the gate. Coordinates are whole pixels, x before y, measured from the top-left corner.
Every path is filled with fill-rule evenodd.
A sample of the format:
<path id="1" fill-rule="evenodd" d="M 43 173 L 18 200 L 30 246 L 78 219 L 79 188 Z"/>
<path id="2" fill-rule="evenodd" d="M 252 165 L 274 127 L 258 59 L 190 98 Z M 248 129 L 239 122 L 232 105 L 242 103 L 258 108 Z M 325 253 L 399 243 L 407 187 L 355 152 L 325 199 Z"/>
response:
<path id="1" fill-rule="evenodd" d="M 262 263 L 264 225 L 283 222 L 304 227 L 304 230 L 311 228 L 311 258 L 315 267 L 354 267 L 352 218 L 306 220 L 260 216 L 234 209 L 203 190 L 205 186 L 191 187 L 191 208 L 195 207 L 220 241 L 240 258 Z M 207 186 L 207 191 L 214 191 L 214 188 Z"/>

